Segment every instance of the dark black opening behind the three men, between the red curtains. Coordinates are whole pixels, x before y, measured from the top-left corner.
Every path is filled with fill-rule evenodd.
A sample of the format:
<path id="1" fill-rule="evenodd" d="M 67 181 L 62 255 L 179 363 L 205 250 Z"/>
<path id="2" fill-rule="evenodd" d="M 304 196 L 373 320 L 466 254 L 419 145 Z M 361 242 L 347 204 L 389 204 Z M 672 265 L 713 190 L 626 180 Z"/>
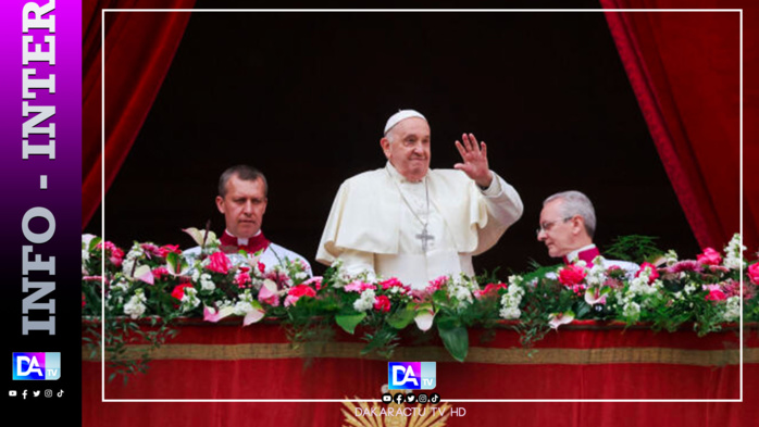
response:
<path id="1" fill-rule="evenodd" d="M 248 163 L 270 184 L 264 233 L 321 273 L 337 188 L 384 166 L 385 121 L 407 108 L 430 121 L 432 167 L 452 167 L 471 131 L 522 197 L 477 272 L 555 262 L 534 230 L 543 199 L 568 189 L 594 201 L 601 248 L 642 234 L 699 251 L 599 12 L 196 12 L 107 194 L 105 237 L 186 248 L 182 228 L 221 233 L 219 175 Z"/>

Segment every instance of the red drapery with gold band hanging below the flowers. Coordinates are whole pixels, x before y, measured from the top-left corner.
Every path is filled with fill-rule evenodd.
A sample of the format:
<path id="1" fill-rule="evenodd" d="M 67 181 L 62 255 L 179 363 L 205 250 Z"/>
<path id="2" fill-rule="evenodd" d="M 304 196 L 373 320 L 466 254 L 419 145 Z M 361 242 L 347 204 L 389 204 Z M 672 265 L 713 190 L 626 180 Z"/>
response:
<path id="1" fill-rule="evenodd" d="M 472 329 L 465 363 L 452 361 L 438 341 L 399 348 L 394 361 L 436 361 L 435 391 L 445 399 L 737 399 L 738 337 L 734 331 L 697 337 L 681 330 L 622 331 L 593 322 L 562 327 L 528 355 L 519 336 L 496 330 L 481 339 Z M 585 329 L 590 328 L 590 329 Z M 387 360 L 362 357 L 363 343 L 338 331 L 338 342 L 310 361 L 293 349 L 279 325 L 189 325 L 152 354 L 150 369 L 107 384 L 107 399 L 378 399 Z M 756 329 L 747 328 L 743 403 L 471 403 L 446 426 L 730 426 L 757 417 Z M 413 341 L 413 339 L 412 339 Z M 99 356 L 83 349 L 83 425 L 339 426 L 340 402 L 103 403 Z M 107 369 L 107 376 L 109 371 Z M 362 419 L 369 425 L 370 420 Z M 402 419 L 399 419 L 402 422 Z M 410 419 L 406 419 L 410 423 Z M 747 424 L 748 423 L 748 424 Z M 382 425 L 382 424 L 381 424 Z M 385 425 L 390 425 L 387 422 Z M 399 423 L 398 425 L 407 425 Z M 419 425 L 419 424 L 416 424 Z"/>

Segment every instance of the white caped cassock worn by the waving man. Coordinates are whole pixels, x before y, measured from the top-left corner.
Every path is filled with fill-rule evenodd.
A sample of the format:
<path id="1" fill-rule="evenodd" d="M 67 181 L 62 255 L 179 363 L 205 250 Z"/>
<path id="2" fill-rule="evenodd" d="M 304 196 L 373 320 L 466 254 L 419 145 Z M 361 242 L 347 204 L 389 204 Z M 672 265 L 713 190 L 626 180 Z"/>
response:
<path id="1" fill-rule="evenodd" d="M 353 176 L 335 197 L 316 261 L 340 259 L 350 274 L 397 277 L 418 289 L 441 275 L 473 275 L 472 255 L 492 248 L 522 215 L 514 188 L 493 177 L 486 190 L 456 169 L 431 169 L 411 183 L 389 162 Z"/>

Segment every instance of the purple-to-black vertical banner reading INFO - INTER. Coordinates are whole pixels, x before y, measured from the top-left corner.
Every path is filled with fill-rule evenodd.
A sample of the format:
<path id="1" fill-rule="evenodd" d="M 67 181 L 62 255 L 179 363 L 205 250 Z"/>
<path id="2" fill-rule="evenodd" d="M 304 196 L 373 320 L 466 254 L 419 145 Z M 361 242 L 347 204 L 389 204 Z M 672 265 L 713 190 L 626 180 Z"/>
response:
<path id="1" fill-rule="evenodd" d="M 23 425 L 80 425 L 82 3 L 4 0 L 0 10 L 2 354 L 12 368 L 0 392 Z M 16 366 L 14 353 L 60 359 Z"/>

